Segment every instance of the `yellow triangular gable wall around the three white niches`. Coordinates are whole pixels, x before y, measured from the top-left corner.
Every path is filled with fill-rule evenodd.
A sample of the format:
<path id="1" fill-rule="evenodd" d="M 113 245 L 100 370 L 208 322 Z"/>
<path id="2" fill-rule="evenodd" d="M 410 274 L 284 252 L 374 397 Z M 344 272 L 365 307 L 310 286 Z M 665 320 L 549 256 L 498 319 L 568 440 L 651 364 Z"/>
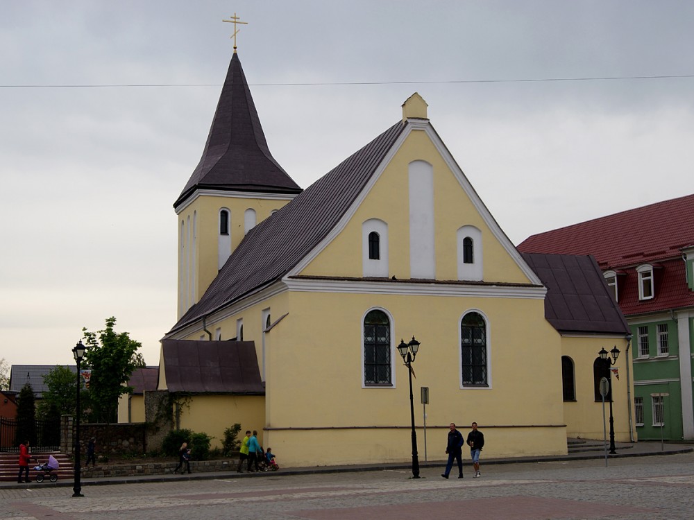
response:
<path id="1" fill-rule="evenodd" d="M 527 284 L 525 274 L 491 234 L 459 180 L 421 130 L 407 137 L 345 229 L 301 274 L 362 276 L 362 223 L 378 218 L 389 226 L 389 277 L 410 278 L 407 172 L 409 163 L 420 159 L 434 168 L 437 279 L 457 279 L 456 232 L 459 227 L 473 225 L 482 231 L 484 281 Z"/>

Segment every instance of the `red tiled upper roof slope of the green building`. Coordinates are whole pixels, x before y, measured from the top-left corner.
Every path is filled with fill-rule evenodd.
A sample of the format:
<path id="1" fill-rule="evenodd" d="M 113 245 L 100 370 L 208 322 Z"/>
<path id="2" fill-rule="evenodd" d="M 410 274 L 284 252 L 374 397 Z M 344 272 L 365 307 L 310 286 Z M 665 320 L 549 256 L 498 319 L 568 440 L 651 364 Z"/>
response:
<path id="1" fill-rule="evenodd" d="M 602 269 L 679 257 L 694 245 L 694 195 L 530 236 L 521 252 L 592 254 Z"/>

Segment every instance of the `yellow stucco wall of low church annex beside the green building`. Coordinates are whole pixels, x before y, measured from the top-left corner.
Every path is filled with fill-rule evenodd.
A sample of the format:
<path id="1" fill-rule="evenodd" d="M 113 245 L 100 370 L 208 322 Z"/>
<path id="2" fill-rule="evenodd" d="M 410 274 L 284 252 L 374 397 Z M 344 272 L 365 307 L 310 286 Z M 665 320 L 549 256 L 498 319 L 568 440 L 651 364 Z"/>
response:
<path id="1" fill-rule="evenodd" d="M 593 390 L 593 362 L 598 358 L 598 352 L 604 347 L 611 350 L 613 346 L 620 349 L 615 368 L 619 369 L 619 379 L 612 376 L 612 415 L 614 419 L 614 433 L 617 442 L 629 442 L 629 408 L 632 419 L 634 417 L 634 404 L 629 404 L 629 390 L 631 399 L 634 399 L 634 370 L 629 366 L 629 383 L 627 383 L 627 363 L 631 365 L 631 353 L 627 358 L 627 341 L 625 338 L 570 338 L 561 340 L 561 352 L 568 356 L 575 367 L 575 392 L 576 401 L 564 402 L 564 417 L 566 419 L 566 431 L 569 437 L 582 439 L 602 439 L 604 436 L 602 422 L 602 401 L 595 401 Z M 630 387 L 630 388 L 629 388 Z M 609 436 L 609 403 L 605 403 L 605 428 Z M 636 432 L 634 428 L 634 440 Z M 609 438 L 609 437 L 608 437 Z"/>

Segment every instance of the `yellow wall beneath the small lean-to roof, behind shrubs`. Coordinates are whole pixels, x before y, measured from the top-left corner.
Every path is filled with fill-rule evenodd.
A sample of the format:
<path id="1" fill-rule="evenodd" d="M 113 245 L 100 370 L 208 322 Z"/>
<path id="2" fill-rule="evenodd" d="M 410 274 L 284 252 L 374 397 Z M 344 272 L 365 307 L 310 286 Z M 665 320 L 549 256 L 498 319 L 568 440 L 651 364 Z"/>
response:
<path id="1" fill-rule="evenodd" d="M 221 448 L 224 430 L 235 423 L 241 424 L 241 435 L 246 430 L 257 430 L 258 441 L 264 447 L 262 427 L 265 424 L 265 406 L 262 396 L 194 395 L 180 408 L 180 428 L 210 435 L 210 447 Z M 193 447 L 194 449 L 194 447 Z"/>

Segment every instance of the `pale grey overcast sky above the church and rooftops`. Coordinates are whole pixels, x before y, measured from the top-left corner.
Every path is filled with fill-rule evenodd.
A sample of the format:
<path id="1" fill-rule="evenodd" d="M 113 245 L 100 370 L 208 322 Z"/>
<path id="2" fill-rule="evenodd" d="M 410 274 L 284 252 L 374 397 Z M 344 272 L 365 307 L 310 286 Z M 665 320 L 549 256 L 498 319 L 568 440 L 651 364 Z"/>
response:
<path id="1" fill-rule="evenodd" d="M 688 0 L 0 0 L 0 358 L 74 363 L 82 327 L 114 315 L 158 363 L 172 205 L 234 12 L 270 150 L 301 187 L 418 92 L 516 244 L 694 192 Z M 599 79 L 635 76 L 679 77 Z"/>

